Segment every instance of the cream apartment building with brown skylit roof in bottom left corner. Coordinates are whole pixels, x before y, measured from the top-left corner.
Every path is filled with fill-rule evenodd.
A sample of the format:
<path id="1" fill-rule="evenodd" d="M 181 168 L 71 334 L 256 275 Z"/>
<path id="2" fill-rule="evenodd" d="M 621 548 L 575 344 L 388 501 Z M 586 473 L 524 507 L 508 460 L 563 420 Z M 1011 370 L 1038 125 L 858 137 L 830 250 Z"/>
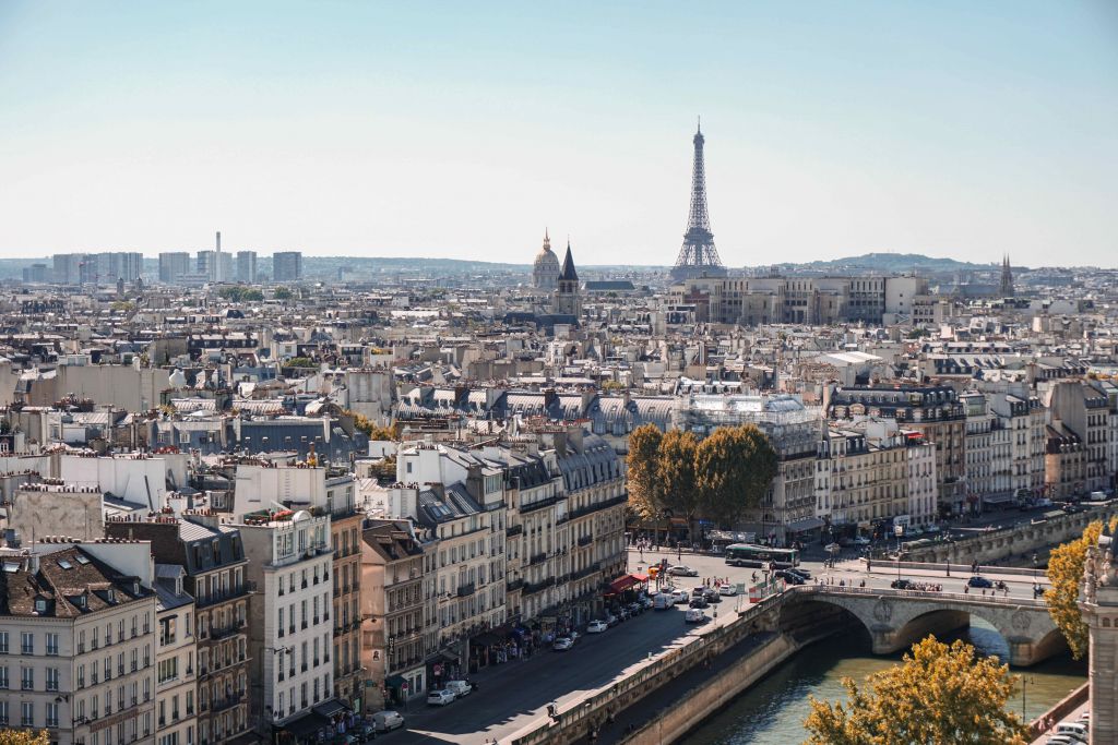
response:
<path id="1" fill-rule="evenodd" d="M 155 743 L 148 544 L 47 538 L 0 561 L 0 727 L 60 745 Z"/>

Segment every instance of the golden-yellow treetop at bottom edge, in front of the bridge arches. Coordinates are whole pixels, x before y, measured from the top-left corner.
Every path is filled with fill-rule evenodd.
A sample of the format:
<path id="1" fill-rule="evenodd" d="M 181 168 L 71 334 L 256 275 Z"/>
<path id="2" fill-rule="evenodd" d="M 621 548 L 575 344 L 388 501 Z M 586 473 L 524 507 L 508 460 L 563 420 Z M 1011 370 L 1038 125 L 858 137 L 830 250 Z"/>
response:
<path id="1" fill-rule="evenodd" d="M 864 687 L 850 678 L 843 686 L 846 704 L 812 697 L 804 745 L 1027 742 L 1021 719 L 1005 709 L 1015 686 L 1010 666 L 977 658 L 963 641 L 948 647 L 928 637 L 900 665 L 869 676 Z"/>

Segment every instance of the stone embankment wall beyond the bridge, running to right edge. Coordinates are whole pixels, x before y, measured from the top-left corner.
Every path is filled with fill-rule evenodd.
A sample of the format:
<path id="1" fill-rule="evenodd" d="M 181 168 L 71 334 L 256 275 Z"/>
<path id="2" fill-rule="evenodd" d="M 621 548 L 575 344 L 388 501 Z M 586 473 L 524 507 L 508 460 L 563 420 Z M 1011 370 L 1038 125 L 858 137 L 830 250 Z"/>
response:
<path id="1" fill-rule="evenodd" d="M 1091 522 L 1108 520 L 1115 515 L 1118 515 L 1118 506 L 1107 505 L 1082 513 L 1034 520 L 1029 525 L 1016 525 L 957 541 L 909 548 L 902 558 L 940 566 L 950 563 L 967 567 L 975 561 L 979 564 L 989 564 L 1018 555 L 1029 561 L 1033 552 L 1045 552 L 1061 543 L 1078 538 Z"/>

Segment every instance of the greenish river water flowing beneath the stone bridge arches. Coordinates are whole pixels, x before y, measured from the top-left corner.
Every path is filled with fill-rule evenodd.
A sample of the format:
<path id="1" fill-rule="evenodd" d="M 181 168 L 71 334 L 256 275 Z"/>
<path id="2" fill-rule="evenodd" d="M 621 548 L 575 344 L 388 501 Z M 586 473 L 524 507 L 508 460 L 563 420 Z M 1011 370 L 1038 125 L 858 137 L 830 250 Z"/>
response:
<path id="1" fill-rule="evenodd" d="M 987 655 L 1008 657 L 1008 647 L 992 627 L 979 619 L 961 638 Z M 897 665 L 901 653 L 878 657 L 865 636 L 832 637 L 813 644 L 745 691 L 724 709 L 686 735 L 688 745 L 798 745 L 807 737 L 804 719 L 811 709 L 808 696 L 828 701 L 845 700 L 844 677 L 862 682 L 865 676 Z M 1023 670 L 1012 670 L 1031 680 L 1025 690 L 1025 719 L 1041 715 L 1087 680 L 1086 661 L 1076 662 L 1068 652 Z M 1018 716 L 1021 691 L 1006 707 Z"/>

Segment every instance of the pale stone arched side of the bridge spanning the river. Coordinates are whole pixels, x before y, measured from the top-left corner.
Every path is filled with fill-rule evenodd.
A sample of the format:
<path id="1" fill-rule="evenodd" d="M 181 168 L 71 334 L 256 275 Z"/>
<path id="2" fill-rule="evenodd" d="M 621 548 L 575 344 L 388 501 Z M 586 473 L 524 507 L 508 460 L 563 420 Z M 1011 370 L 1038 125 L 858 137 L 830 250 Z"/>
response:
<path id="1" fill-rule="evenodd" d="M 1035 665 L 1065 646 L 1043 600 L 831 585 L 800 585 L 784 594 L 781 624 L 786 617 L 808 613 L 814 603 L 837 606 L 862 622 L 878 655 L 908 649 L 929 633 L 942 636 L 966 628 L 970 617 L 983 619 L 1002 634 L 1014 667 Z"/>

